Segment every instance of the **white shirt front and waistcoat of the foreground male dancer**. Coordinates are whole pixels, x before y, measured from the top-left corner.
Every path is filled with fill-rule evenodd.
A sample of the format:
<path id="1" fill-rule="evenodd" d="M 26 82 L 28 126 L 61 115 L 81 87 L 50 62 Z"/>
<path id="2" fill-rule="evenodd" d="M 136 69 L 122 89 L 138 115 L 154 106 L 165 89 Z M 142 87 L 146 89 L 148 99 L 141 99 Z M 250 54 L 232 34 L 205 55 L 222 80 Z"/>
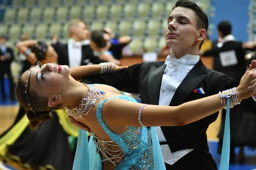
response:
<path id="1" fill-rule="evenodd" d="M 163 79 L 160 88 L 159 105 L 169 106 L 178 86 L 189 73 L 189 71 L 191 71 L 191 69 L 199 61 L 199 58 L 199 56 L 186 54 L 180 59 L 177 59 L 173 53 L 171 53 L 166 58 L 165 64 L 167 66 L 163 72 Z M 177 62 L 175 63 L 175 61 L 170 62 L 170 59 L 174 59 L 177 62 L 183 60 L 183 64 L 176 64 Z M 166 142 L 166 139 L 163 135 L 163 131 L 161 130 L 161 128 L 159 126 L 155 128 L 157 131 L 159 142 Z M 172 165 L 176 161 L 181 159 L 183 156 L 185 156 L 187 153 L 191 152 L 193 149 L 179 150 L 177 152 L 172 153 L 168 144 L 163 144 L 161 145 L 161 150 L 163 153 L 164 162 Z"/>

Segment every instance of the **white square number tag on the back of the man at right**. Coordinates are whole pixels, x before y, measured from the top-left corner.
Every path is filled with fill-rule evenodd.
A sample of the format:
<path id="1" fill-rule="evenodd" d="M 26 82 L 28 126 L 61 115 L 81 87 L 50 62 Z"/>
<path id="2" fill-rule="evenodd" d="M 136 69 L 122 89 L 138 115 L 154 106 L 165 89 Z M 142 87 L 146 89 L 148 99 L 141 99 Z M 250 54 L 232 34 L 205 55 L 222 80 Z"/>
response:
<path id="1" fill-rule="evenodd" d="M 220 52 L 220 58 L 221 58 L 221 65 L 223 67 L 236 65 L 238 63 L 236 58 L 236 52 L 234 50 Z"/>

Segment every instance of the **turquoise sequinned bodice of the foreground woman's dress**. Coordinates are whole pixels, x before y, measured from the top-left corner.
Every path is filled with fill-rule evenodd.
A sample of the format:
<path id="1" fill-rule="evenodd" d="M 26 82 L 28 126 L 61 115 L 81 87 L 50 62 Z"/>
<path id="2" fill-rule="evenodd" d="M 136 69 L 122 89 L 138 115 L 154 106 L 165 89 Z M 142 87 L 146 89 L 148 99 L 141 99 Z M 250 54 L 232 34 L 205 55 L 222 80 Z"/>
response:
<path id="1" fill-rule="evenodd" d="M 128 96 L 115 96 L 109 99 L 125 99 L 130 102 L 137 102 Z M 97 119 L 105 133 L 119 146 L 124 153 L 124 159 L 117 164 L 115 170 L 153 170 L 153 149 L 151 139 L 148 137 L 147 127 L 128 127 L 123 133 L 113 133 L 102 119 L 102 106 L 109 99 L 103 100 L 97 106 Z M 94 137 L 96 140 L 96 137 Z M 99 143 L 95 142 L 96 150 Z M 102 170 L 102 163 L 98 164 L 97 170 Z"/>

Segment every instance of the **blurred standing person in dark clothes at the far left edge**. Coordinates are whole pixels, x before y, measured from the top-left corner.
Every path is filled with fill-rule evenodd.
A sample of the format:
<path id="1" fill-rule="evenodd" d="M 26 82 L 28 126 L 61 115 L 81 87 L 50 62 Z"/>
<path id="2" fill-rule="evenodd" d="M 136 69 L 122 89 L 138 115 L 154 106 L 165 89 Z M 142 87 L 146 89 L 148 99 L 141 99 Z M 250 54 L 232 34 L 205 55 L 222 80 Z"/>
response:
<path id="1" fill-rule="evenodd" d="M 1 94 L 2 100 L 6 100 L 6 93 L 4 91 L 4 74 L 7 75 L 9 81 L 9 94 L 10 99 L 15 99 L 15 86 L 13 82 L 11 63 L 14 59 L 13 49 L 6 46 L 6 37 L 0 37 L 0 81 L 1 81 Z"/>

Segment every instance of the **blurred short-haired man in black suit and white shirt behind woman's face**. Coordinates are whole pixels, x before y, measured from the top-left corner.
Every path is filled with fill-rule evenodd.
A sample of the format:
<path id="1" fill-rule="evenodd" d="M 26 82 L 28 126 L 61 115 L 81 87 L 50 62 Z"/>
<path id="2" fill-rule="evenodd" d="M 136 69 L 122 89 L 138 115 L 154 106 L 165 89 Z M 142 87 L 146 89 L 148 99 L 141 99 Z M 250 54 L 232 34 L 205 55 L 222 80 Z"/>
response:
<path id="1" fill-rule="evenodd" d="M 90 31 L 84 21 L 80 19 L 71 20 L 68 24 L 70 39 L 67 44 L 52 41 L 52 47 L 58 54 L 58 64 L 68 65 L 70 68 L 80 65 L 99 64 L 105 60 L 94 56 L 90 46 Z"/>

